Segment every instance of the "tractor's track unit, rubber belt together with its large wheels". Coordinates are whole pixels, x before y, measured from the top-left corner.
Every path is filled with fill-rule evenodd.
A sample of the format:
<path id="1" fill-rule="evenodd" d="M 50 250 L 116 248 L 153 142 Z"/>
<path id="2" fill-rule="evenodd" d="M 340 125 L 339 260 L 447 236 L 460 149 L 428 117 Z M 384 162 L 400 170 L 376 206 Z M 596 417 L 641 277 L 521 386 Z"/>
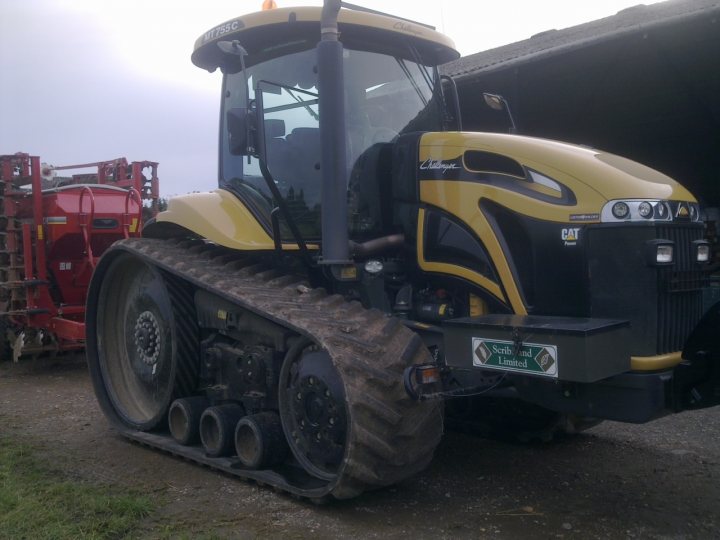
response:
<path id="1" fill-rule="evenodd" d="M 278 410 L 236 424 L 240 457 L 210 457 L 165 427 L 171 403 L 201 390 L 199 289 L 295 336 L 275 383 Z M 227 250 L 187 241 L 116 243 L 93 276 L 87 320 L 95 392 L 119 431 L 293 495 L 349 498 L 394 484 L 427 466 L 442 436 L 441 403 L 412 401 L 403 388 L 407 366 L 431 361 L 416 334 Z M 187 413 L 186 400 L 176 403 L 170 428 L 190 434 L 186 424 L 198 412 Z"/>

